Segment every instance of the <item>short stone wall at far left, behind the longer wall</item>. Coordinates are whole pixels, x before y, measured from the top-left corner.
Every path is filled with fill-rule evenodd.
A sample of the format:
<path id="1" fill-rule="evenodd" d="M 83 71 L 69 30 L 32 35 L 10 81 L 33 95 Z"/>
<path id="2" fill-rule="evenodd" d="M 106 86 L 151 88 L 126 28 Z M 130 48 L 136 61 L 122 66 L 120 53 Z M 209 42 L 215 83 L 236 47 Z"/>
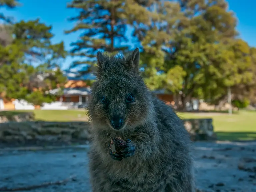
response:
<path id="1" fill-rule="evenodd" d="M 34 121 L 35 115 L 33 112 L 22 112 L 13 114 L 12 112 L 5 111 L 3 114 L 0 113 L 0 123 L 6 123 L 10 121 L 23 122 L 23 121 Z"/>

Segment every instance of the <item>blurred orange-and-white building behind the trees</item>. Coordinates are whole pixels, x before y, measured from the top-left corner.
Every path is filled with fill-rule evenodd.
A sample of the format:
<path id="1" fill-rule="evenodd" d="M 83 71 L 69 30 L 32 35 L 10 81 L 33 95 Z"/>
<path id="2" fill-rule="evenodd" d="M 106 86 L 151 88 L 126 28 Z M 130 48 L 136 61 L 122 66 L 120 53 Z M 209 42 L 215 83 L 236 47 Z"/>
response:
<path id="1" fill-rule="evenodd" d="M 45 103 L 42 107 L 34 106 L 36 109 L 77 109 L 84 108 L 87 106 L 91 88 L 85 81 L 93 80 L 95 76 L 91 73 L 78 76 L 79 71 L 77 70 L 66 70 L 63 71 L 64 75 L 67 76 L 67 83 L 64 85 L 61 96 L 57 97 L 56 102 Z M 50 94 L 59 95 L 60 89 L 53 89 L 49 91 Z M 172 104 L 174 98 L 171 92 L 166 90 L 153 91 L 156 97 L 166 102 L 166 104 Z M 31 104 L 25 101 L 11 100 L 5 101 L 0 99 L 0 109 L 15 110 L 15 109 L 32 109 Z"/>

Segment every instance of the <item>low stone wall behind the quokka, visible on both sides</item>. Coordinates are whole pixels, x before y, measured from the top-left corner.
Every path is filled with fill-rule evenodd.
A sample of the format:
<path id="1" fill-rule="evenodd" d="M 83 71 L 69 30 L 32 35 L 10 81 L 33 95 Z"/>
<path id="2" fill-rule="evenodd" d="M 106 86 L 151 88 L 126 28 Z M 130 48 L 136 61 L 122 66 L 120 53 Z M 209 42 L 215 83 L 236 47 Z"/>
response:
<path id="1" fill-rule="evenodd" d="M 193 141 L 215 140 L 212 119 L 184 119 Z M 60 145 L 88 143 L 89 122 L 7 122 L 0 124 L 0 144 Z"/>

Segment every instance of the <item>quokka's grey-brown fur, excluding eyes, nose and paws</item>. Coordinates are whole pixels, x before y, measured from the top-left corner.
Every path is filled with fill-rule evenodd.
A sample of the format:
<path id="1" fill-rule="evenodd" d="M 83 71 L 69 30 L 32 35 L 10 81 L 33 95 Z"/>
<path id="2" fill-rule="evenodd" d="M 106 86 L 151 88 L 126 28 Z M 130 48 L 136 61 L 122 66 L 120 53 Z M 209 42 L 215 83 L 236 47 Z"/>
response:
<path id="1" fill-rule="evenodd" d="M 139 75 L 139 50 L 124 57 L 98 53 L 97 81 L 89 104 L 92 144 L 90 178 L 93 192 L 194 192 L 191 142 L 182 121 L 147 89 Z M 128 93 L 135 101 L 126 104 Z M 106 96 L 108 105 L 100 102 Z M 125 117 L 115 130 L 112 115 Z M 135 155 L 113 160 L 111 139 L 120 136 L 135 144 Z"/>

